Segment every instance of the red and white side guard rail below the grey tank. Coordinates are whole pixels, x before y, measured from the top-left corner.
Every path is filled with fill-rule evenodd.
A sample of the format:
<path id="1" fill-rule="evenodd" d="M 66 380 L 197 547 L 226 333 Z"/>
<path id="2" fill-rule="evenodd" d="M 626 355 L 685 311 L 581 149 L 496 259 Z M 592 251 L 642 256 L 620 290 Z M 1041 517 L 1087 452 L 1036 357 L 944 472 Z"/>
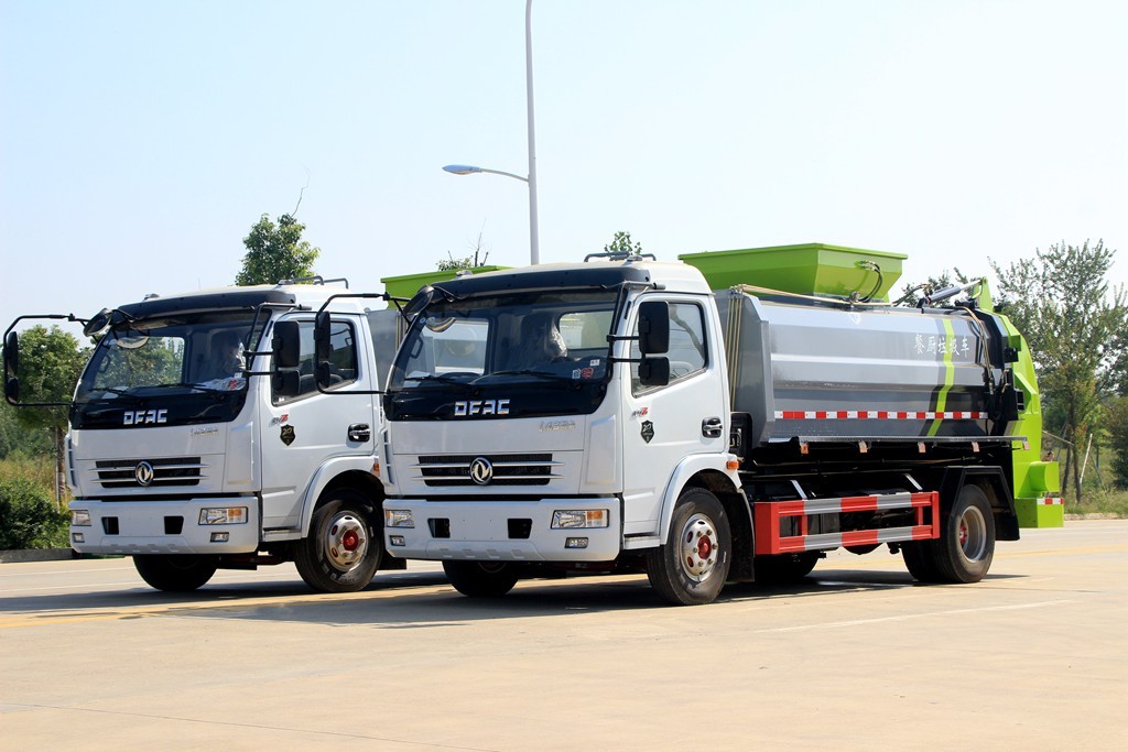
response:
<path id="1" fill-rule="evenodd" d="M 810 515 L 879 510 L 913 510 L 914 524 L 845 532 L 814 534 L 808 532 Z M 934 490 L 918 494 L 906 492 L 880 496 L 756 502 L 752 512 L 756 522 L 757 554 L 820 551 L 841 546 L 870 546 L 940 538 L 940 494 Z"/>

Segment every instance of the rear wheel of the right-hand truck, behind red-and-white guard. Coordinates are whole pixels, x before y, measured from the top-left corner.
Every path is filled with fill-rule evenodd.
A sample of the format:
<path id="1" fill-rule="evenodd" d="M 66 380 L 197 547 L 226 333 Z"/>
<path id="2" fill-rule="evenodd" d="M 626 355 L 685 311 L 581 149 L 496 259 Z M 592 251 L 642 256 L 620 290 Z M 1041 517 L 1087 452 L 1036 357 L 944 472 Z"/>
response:
<path id="1" fill-rule="evenodd" d="M 920 582 L 979 582 L 995 557 L 995 515 L 979 486 L 960 489 L 941 522 L 937 540 L 901 549 L 909 573 Z"/>

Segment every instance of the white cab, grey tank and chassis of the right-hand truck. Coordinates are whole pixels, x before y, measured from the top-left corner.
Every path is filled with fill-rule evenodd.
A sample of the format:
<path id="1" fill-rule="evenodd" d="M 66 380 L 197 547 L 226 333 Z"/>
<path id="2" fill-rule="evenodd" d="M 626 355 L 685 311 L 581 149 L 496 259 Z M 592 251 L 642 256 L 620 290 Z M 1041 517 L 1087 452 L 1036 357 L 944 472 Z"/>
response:
<path id="1" fill-rule="evenodd" d="M 881 283 L 866 263 L 843 268 Z M 920 581 L 980 580 L 1019 537 L 1021 336 L 972 300 L 820 285 L 714 292 L 631 257 L 424 287 L 384 397 L 386 549 L 486 598 L 645 572 L 707 603 L 883 545 Z"/>

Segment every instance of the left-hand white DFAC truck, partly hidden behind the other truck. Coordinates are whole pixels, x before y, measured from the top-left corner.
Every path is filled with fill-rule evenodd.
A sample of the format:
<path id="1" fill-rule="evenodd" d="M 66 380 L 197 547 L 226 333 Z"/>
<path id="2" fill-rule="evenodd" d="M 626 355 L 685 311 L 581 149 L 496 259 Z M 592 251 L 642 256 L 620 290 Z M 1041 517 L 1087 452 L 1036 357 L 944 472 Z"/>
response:
<path id="1" fill-rule="evenodd" d="M 89 320 L 9 327 L 14 405 L 20 320 L 102 333 L 69 404 L 77 551 L 132 556 L 166 591 L 290 560 L 321 592 L 404 568 L 381 543 L 376 397 L 400 317 L 385 295 L 328 282 L 151 295 Z"/>

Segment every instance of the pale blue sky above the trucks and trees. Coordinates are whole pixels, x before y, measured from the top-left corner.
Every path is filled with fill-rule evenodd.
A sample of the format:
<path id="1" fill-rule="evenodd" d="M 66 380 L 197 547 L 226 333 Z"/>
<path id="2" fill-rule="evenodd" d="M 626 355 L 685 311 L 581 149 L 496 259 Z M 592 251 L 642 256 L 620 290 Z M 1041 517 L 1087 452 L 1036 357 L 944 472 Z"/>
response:
<path id="1" fill-rule="evenodd" d="M 1128 282 L 1128 3 L 537 0 L 541 259 L 790 242 Z M 291 211 L 354 289 L 528 263 L 525 3 L 0 0 L 0 326 L 230 283 Z"/>

